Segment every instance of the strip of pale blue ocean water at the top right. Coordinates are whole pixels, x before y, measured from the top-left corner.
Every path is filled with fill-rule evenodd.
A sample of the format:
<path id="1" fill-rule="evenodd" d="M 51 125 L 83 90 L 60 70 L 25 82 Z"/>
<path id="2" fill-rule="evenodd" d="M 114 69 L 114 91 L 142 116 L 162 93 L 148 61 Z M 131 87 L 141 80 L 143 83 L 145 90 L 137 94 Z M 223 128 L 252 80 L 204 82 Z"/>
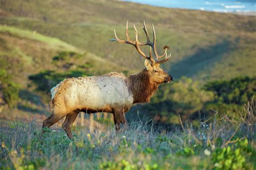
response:
<path id="1" fill-rule="evenodd" d="M 161 6 L 166 8 L 181 8 L 215 12 L 256 12 L 256 0 L 127 0 L 129 2 Z"/>

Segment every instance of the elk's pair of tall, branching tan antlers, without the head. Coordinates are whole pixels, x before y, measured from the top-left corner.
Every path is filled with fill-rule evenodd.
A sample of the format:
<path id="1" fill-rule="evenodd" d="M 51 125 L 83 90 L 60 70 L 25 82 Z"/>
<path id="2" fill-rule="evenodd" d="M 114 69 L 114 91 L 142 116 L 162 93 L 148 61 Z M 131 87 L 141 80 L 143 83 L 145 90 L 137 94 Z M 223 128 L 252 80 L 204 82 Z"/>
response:
<path id="1" fill-rule="evenodd" d="M 154 31 L 154 25 L 153 24 L 152 24 L 153 42 L 151 42 L 150 39 L 149 39 L 149 32 L 147 32 L 147 27 L 146 27 L 145 21 L 144 21 L 144 25 L 143 25 L 143 30 L 146 34 L 146 38 L 147 38 L 146 42 L 139 42 L 139 40 L 138 40 L 138 31 L 137 31 L 134 24 L 133 24 L 133 27 L 134 27 L 134 32 L 135 32 L 135 41 L 132 41 L 129 38 L 129 35 L 128 35 L 128 21 L 126 22 L 126 30 L 125 30 L 126 40 L 120 40 L 119 38 L 117 38 L 116 30 L 114 30 L 114 38 L 110 39 L 110 41 L 117 41 L 117 42 L 120 42 L 120 43 L 126 43 L 126 44 L 133 45 L 134 47 L 136 47 L 136 49 L 140 53 L 140 55 L 142 55 L 144 58 L 146 58 L 146 59 L 148 59 L 152 62 L 152 65 L 154 65 L 156 63 L 160 64 L 160 63 L 163 63 L 163 62 L 170 59 L 171 54 L 167 56 L 167 52 L 166 52 L 167 48 L 164 48 L 165 51 L 162 55 L 159 56 L 157 54 L 157 50 L 156 50 L 156 32 Z M 143 53 L 142 50 L 139 48 L 139 46 L 144 46 L 144 45 L 149 45 L 150 46 L 150 56 Z M 154 60 L 152 58 L 151 48 L 153 49 L 154 56 L 156 56 L 156 60 Z M 163 58 L 163 56 L 165 56 L 165 58 L 163 60 L 159 60 L 159 59 Z"/>

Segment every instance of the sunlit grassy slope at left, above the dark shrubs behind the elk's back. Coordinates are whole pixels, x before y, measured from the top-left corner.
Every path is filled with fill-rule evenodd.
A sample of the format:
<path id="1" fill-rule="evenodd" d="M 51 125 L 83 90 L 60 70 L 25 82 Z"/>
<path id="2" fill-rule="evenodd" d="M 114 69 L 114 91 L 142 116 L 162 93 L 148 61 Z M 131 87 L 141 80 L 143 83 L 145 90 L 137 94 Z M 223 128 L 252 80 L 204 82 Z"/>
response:
<path id="1" fill-rule="evenodd" d="M 83 54 L 83 57 L 73 62 L 76 65 L 90 62 L 94 66 L 92 72 L 95 74 L 110 72 L 112 69 L 122 70 L 115 63 L 99 58 L 95 54 L 85 52 L 58 38 L 44 36 L 35 31 L 31 32 L 17 29 L 16 27 L 0 25 L 0 36 L 2 42 L 0 51 L 1 67 L 9 69 L 14 79 L 19 79 L 16 81 L 21 84 L 26 84 L 24 80 L 30 74 L 38 73 L 45 69 L 59 69 L 52 62 L 52 57 L 63 51 Z M 17 65 L 15 65 L 16 63 Z M 104 68 L 99 69 L 102 68 L 103 64 Z"/>

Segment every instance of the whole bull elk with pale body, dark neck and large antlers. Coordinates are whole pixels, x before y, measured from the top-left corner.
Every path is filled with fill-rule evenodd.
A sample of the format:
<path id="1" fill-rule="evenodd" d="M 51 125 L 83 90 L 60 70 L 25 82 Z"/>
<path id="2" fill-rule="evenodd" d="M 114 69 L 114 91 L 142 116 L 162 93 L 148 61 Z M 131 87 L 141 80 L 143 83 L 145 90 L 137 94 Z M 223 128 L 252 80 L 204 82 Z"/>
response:
<path id="1" fill-rule="evenodd" d="M 153 26 L 153 25 L 152 25 Z M 170 83 L 173 81 L 171 75 L 160 68 L 160 64 L 169 60 L 167 55 L 167 46 L 162 55 L 156 51 L 156 33 L 153 29 L 153 42 L 150 41 L 144 22 L 143 30 L 147 41 L 138 41 L 138 31 L 134 25 L 135 41 L 130 40 L 128 36 L 128 22 L 126 23 L 126 40 L 117 38 L 114 30 L 114 38 L 110 41 L 126 43 L 136 47 L 140 55 L 145 60 L 145 69 L 138 74 L 132 74 L 126 77 L 122 73 L 111 72 L 101 76 L 89 76 L 65 79 L 57 86 L 51 89 L 52 94 L 52 115 L 43 122 L 44 127 L 50 127 L 66 116 L 63 123 L 63 129 L 68 137 L 73 138 L 71 125 L 75 121 L 79 112 L 87 114 L 95 112 L 111 112 L 114 117 L 116 130 L 120 129 L 120 124 L 126 125 L 125 112 L 135 103 L 146 103 L 158 89 L 161 83 Z M 149 55 L 142 52 L 140 46 L 150 46 Z M 152 58 L 151 48 L 153 49 L 156 60 Z M 163 58 L 164 59 L 161 59 Z M 160 60 L 161 59 L 161 60 Z"/>

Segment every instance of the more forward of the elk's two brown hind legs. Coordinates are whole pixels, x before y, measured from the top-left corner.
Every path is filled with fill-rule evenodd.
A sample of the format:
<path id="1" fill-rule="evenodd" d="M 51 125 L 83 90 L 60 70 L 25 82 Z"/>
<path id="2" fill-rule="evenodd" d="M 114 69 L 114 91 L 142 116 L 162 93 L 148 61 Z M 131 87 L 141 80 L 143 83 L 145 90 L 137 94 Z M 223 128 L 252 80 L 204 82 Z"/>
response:
<path id="1" fill-rule="evenodd" d="M 71 133 L 71 125 L 75 122 L 78 114 L 79 112 L 75 112 L 75 111 L 70 112 L 68 115 L 66 115 L 66 119 L 62 124 L 62 128 L 65 130 L 66 134 L 70 139 L 73 138 L 73 135 Z"/>

